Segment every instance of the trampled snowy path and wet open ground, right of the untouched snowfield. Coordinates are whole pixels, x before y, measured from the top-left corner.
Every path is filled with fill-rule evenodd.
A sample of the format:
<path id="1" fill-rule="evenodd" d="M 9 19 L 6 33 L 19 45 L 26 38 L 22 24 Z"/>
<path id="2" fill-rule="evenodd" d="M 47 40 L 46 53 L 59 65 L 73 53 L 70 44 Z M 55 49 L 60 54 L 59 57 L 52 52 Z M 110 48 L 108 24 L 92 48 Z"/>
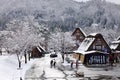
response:
<path id="1" fill-rule="evenodd" d="M 76 77 L 75 64 L 73 69 L 70 67 L 70 63 L 62 63 L 61 58 L 57 57 L 57 67 L 50 68 L 51 58 L 49 55 L 46 57 L 37 59 L 32 67 L 26 72 L 25 80 L 83 80 L 83 78 L 91 80 L 103 78 L 103 80 L 118 80 L 120 77 L 120 67 L 113 67 L 108 71 L 105 68 L 88 68 L 82 64 L 79 64 L 77 72 L 84 72 L 84 77 Z M 115 77 L 116 79 L 112 79 Z M 109 79 L 106 79 L 109 78 Z M 102 79 L 101 79 L 102 80 Z"/>

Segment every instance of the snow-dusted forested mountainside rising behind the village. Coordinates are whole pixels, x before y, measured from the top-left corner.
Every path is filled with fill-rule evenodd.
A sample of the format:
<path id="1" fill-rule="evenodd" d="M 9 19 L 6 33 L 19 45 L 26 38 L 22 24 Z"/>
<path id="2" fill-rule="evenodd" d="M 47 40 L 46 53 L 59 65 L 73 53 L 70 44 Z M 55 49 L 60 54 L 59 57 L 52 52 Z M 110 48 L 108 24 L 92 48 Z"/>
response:
<path id="1" fill-rule="evenodd" d="M 0 5 L 1 29 L 10 20 L 27 15 L 34 16 L 40 24 L 48 24 L 51 29 L 72 30 L 76 24 L 89 27 L 93 23 L 108 28 L 120 25 L 120 6 L 104 0 L 86 3 L 72 0 L 1 0 Z"/>

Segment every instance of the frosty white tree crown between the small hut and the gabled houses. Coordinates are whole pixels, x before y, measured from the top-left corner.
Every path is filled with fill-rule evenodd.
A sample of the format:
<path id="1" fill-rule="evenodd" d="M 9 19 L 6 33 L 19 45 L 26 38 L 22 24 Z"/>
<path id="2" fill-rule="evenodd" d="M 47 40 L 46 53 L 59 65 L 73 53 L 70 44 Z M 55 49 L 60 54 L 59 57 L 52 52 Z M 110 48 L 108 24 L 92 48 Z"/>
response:
<path id="1" fill-rule="evenodd" d="M 61 52 L 69 51 L 74 45 L 71 32 L 62 32 L 59 28 L 50 36 L 49 48 L 60 50 Z"/>

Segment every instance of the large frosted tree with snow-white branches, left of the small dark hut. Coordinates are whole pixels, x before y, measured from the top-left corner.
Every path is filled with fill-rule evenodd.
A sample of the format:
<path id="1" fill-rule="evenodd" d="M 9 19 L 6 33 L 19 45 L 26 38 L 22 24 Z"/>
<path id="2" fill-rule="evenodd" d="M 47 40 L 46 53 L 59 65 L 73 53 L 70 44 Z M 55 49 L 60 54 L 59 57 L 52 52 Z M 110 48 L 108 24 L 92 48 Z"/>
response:
<path id="1" fill-rule="evenodd" d="M 13 20 L 7 24 L 7 31 L 13 32 L 11 37 L 7 38 L 4 47 L 9 49 L 11 53 L 17 54 L 19 67 L 21 67 L 21 59 L 26 52 L 33 46 L 38 46 L 44 38 L 41 36 L 41 25 L 33 22 L 32 19 L 23 18 L 22 20 Z M 25 59 L 26 61 L 26 59 Z"/>

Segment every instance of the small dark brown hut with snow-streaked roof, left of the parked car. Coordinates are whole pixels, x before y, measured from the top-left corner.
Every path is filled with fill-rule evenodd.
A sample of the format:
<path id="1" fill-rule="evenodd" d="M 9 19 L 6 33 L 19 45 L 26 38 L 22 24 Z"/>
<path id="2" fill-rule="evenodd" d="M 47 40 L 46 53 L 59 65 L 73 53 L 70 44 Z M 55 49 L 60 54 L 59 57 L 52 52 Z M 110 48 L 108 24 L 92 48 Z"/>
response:
<path id="1" fill-rule="evenodd" d="M 45 50 L 41 46 L 34 46 L 32 48 L 31 58 L 40 58 L 45 55 Z"/>

